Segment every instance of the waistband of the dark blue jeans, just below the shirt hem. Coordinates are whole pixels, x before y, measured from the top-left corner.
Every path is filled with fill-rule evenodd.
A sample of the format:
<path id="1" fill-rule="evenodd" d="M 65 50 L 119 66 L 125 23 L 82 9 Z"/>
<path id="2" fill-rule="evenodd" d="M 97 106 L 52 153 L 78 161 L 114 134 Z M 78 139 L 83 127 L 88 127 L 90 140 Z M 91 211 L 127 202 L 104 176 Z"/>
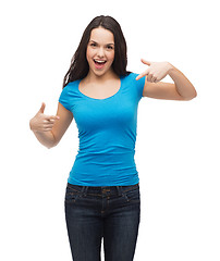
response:
<path id="1" fill-rule="evenodd" d="M 78 185 L 73 185 L 68 183 L 68 186 L 81 192 L 82 196 L 86 196 L 87 194 L 96 194 L 100 196 L 103 196 L 103 195 L 122 196 L 123 192 L 126 192 L 139 187 L 139 183 L 131 186 L 102 186 L 102 187 L 78 186 Z"/>

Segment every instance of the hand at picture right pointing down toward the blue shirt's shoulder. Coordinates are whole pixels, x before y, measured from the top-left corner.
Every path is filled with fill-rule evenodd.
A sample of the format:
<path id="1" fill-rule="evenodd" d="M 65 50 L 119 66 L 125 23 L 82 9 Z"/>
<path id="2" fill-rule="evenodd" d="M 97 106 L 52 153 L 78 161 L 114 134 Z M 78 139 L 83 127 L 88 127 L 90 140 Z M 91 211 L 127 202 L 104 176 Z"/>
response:
<path id="1" fill-rule="evenodd" d="M 144 76 L 147 76 L 147 82 L 158 83 L 168 75 L 170 69 L 172 67 L 169 62 L 149 62 L 144 59 L 142 59 L 142 62 L 149 67 L 139 74 L 136 77 L 136 80 L 140 79 Z"/>

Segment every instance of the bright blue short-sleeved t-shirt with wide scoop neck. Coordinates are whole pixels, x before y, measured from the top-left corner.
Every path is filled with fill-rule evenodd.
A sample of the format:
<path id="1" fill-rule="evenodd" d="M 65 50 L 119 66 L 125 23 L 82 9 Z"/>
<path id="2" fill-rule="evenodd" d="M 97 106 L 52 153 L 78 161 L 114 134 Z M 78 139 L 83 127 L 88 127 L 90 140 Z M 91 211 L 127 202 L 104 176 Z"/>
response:
<path id="1" fill-rule="evenodd" d="M 73 113 L 80 146 L 68 182 L 78 186 L 130 186 L 139 182 L 134 160 L 137 107 L 145 77 L 121 76 L 117 94 L 95 99 L 69 83 L 59 102 Z"/>

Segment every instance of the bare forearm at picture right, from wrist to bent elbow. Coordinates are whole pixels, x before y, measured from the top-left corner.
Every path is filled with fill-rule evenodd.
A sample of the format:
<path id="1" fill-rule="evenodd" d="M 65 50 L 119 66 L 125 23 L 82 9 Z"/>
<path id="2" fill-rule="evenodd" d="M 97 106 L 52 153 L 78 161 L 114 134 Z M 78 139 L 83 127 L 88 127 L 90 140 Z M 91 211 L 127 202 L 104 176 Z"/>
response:
<path id="1" fill-rule="evenodd" d="M 197 96 L 197 92 L 192 83 L 176 67 L 171 65 L 168 74 L 174 80 L 176 90 L 182 97 L 184 97 L 185 99 L 193 99 Z"/>

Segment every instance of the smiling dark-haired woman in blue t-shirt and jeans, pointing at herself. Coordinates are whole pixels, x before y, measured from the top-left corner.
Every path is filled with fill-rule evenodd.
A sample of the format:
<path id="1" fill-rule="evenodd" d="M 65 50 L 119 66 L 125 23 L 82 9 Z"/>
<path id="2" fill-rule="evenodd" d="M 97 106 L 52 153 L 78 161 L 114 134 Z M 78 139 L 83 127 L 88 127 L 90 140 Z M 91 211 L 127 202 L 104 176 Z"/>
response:
<path id="1" fill-rule="evenodd" d="M 169 62 L 148 62 L 142 74 L 126 71 L 126 42 L 119 23 L 97 16 L 72 59 L 56 116 L 45 103 L 30 120 L 37 139 L 51 148 L 73 117 L 80 149 L 65 192 L 65 217 L 75 261 L 133 260 L 139 225 L 139 178 L 134 153 L 142 97 L 191 100 L 196 90 Z M 174 80 L 160 82 L 166 75 Z"/>

